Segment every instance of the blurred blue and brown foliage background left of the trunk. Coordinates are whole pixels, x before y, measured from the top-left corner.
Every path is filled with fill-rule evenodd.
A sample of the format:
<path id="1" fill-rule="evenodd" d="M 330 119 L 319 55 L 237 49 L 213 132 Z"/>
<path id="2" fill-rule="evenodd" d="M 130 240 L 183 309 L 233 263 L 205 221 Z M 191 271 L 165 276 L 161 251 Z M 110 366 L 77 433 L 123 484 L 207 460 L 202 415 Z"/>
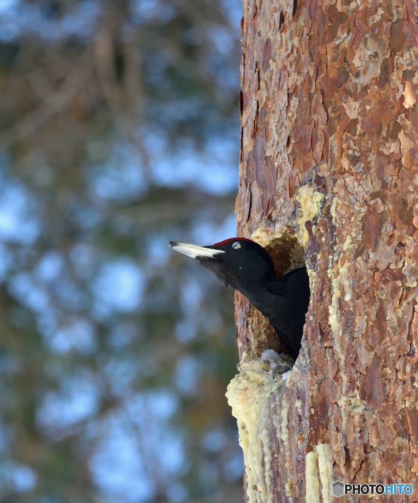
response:
<path id="1" fill-rule="evenodd" d="M 0 1 L 0 500 L 240 501 L 240 0 Z"/>

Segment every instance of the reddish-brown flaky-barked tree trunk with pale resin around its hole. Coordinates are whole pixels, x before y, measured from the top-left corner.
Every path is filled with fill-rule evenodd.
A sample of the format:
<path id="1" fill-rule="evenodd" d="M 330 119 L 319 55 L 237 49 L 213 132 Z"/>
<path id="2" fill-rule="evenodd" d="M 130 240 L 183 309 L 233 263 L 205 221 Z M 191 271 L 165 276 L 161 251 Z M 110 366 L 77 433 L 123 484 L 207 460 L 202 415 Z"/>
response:
<path id="1" fill-rule="evenodd" d="M 411 482 L 376 500 L 418 499 L 417 15 L 244 0 L 238 235 L 279 274 L 304 259 L 311 289 L 285 381 L 260 359 L 274 331 L 236 295 L 247 501 L 328 503 L 337 480 Z"/>

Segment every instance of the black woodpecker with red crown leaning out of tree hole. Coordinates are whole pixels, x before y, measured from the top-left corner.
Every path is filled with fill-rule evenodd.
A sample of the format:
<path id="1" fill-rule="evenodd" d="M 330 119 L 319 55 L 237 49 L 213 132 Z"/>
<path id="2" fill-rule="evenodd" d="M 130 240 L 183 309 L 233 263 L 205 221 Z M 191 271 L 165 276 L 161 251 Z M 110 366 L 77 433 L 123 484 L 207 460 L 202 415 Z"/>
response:
<path id="1" fill-rule="evenodd" d="M 271 321 L 290 356 L 297 358 L 310 295 L 305 267 L 277 279 L 267 251 L 244 237 L 211 246 L 175 241 L 169 245 L 213 271 L 226 287 L 245 295 Z"/>

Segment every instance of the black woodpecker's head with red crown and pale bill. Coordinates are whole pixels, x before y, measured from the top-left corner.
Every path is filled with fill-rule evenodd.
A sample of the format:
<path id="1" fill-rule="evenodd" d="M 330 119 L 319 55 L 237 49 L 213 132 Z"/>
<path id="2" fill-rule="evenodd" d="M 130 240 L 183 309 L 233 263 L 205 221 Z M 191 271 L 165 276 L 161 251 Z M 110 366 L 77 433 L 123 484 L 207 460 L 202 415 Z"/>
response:
<path id="1" fill-rule="evenodd" d="M 211 246 L 175 241 L 169 245 L 213 271 L 225 286 L 247 296 L 259 282 L 275 278 L 270 255 L 251 239 L 232 237 Z"/>

